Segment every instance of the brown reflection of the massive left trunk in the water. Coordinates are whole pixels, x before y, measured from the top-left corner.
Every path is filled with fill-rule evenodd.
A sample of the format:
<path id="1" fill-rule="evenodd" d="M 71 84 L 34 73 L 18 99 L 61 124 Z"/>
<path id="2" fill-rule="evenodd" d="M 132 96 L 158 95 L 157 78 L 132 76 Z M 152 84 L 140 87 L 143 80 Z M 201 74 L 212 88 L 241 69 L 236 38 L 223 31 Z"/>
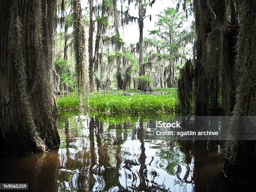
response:
<path id="1" fill-rule="evenodd" d="M 54 192 L 58 187 L 58 164 L 58 149 L 41 154 L 2 155 L 0 183 L 28 183 L 29 191 Z"/>

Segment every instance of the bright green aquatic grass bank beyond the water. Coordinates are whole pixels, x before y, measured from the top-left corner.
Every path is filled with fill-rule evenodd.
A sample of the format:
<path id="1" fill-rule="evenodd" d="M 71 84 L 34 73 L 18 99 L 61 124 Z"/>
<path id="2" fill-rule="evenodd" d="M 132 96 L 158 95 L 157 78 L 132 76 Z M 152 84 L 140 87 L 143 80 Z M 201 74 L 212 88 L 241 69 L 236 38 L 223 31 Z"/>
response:
<path id="1" fill-rule="evenodd" d="M 93 92 L 89 96 L 91 113 L 164 113 L 174 112 L 177 102 L 176 92 L 162 95 L 123 95 L 111 92 L 105 94 Z M 75 93 L 58 97 L 60 110 L 79 108 L 79 98 Z"/>

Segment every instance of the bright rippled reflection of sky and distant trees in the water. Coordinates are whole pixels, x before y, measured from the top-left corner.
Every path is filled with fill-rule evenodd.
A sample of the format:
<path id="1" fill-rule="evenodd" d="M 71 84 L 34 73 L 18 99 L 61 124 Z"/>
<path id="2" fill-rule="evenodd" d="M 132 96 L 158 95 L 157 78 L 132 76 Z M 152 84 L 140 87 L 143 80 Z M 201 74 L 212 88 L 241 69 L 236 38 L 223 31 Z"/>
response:
<path id="1" fill-rule="evenodd" d="M 153 120 L 140 118 L 121 125 L 109 125 L 96 118 L 89 120 L 86 116 L 73 118 L 75 122 L 72 123 L 70 131 L 75 135 L 69 135 L 69 138 L 67 138 L 67 131 L 63 132 L 63 125 L 64 122 L 74 121 L 74 119 L 59 118 L 61 140 L 65 142 L 66 139 L 67 143 L 71 138 L 76 140 L 73 147 L 70 145 L 70 148 L 62 149 L 61 147 L 60 151 L 66 150 L 66 157 L 63 158 L 67 158 L 76 154 L 75 152 L 73 155 L 69 154 L 69 150 L 89 145 L 90 147 L 82 148 L 82 151 L 84 156 L 87 156 L 84 159 L 90 159 L 90 162 L 83 161 L 82 171 L 81 166 L 74 166 L 72 170 L 77 169 L 77 175 L 73 175 L 65 185 L 61 184 L 60 190 L 63 190 L 64 186 L 79 191 L 194 190 L 195 157 L 191 154 L 191 143 L 186 147 L 185 141 L 179 143 L 168 141 L 167 138 L 166 140 L 152 139 L 148 131 L 154 124 Z M 78 143 L 81 139 L 84 141 Z M 219 143 L 216 146 L 220 148 Z M 216 151 L 216 157 L 221 161 L 221 166 L 223 161 L 221 151 Z M 73 159 L 81 161 L 77 157 Z M 87 179 L 82 180 L 81 177 Z M 74 180 L 77 185 L 72 185 Z M 90 184 L 85 184 L 86 182 Z"/>

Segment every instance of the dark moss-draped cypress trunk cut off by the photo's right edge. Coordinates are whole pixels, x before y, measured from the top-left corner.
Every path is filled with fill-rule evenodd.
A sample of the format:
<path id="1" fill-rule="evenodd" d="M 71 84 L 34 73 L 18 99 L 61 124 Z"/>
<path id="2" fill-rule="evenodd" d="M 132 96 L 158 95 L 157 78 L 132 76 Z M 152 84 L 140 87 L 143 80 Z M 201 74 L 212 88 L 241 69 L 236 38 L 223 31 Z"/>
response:
<path id="1" fill-rule="evenodd" d="M 236 116 L 256 115 L 256 1 L 239 1 L 241 27 L 238 35 L 236 68 L 238 87 L 231 125 L 239 133 Z M 225 175 L 234 182 L 256 183 L 255 141 L 226 143 Z"/>

